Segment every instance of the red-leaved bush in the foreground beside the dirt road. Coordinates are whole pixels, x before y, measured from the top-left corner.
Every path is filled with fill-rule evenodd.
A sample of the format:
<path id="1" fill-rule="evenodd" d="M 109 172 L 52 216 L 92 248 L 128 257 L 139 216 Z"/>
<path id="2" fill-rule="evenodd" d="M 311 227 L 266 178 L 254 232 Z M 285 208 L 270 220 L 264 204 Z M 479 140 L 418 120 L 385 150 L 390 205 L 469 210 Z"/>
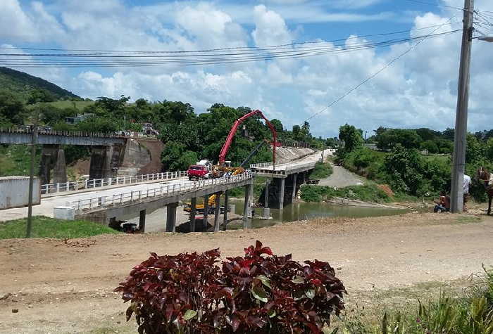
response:
<path id="1" fill-rule="evenodd" d="M 327 262 L 278 257 L 260 241 L 244 257 L 218 249 L 151 257 L 116 291 L 139 333 L 322 333 L 346 289 Z"/>

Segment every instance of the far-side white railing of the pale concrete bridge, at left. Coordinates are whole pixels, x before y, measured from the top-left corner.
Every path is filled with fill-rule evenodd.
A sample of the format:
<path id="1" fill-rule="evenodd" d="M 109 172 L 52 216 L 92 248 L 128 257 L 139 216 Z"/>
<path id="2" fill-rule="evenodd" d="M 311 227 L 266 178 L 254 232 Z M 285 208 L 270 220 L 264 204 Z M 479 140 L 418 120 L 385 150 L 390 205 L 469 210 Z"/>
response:
<path id="1" fill-rule="evenodd" d="M 136 176 L 118 176 L 108 179 L 92 179 L 85 181 L 64 182 L 62 184 L 43 184 L 41 193 L 60 193 L 65 191 L 80 191 L 83 189 L 100 188 L 104 186 L 118 186 L 120 184 L 139 184 L 147 181 L 158 181 L 166 179 L 178 179 L 187 176 L 187 171 L 164 172 L 155 174 L 145 174 Z"/>

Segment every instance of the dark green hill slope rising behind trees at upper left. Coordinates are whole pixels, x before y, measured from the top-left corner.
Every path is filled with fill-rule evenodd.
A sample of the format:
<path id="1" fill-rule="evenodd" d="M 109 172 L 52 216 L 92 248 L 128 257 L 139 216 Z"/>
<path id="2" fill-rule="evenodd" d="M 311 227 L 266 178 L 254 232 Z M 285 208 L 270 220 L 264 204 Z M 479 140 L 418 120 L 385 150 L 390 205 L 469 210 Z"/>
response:
<path id="1" fill-rule="evenodd" d="M 28 75 L 25 72 L 12 70 L 11 68 L 0 67 L 0 89 L 19 96 L 23 101 L 27 101 L 27 98 L 29 98 L 33 91 L 48 92 L 53 97 L 53 101 L 81 99 L 80 96 L 45 79 Z"/>

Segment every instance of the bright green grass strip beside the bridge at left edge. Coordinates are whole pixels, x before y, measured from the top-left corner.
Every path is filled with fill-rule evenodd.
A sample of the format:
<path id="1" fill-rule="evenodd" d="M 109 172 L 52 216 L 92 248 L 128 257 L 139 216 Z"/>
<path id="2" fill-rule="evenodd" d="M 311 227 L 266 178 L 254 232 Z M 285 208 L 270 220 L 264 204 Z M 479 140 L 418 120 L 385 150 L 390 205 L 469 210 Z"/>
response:
<path id="1" fill-rule="evenodd" d="M 0 239 L 25 238 L 27 219 L 0 223 Z M 120 233 L 92 221 L 59 220 L 43 216 L 32 219 L 32 238 L 85 238 L 99 234 Z"/>

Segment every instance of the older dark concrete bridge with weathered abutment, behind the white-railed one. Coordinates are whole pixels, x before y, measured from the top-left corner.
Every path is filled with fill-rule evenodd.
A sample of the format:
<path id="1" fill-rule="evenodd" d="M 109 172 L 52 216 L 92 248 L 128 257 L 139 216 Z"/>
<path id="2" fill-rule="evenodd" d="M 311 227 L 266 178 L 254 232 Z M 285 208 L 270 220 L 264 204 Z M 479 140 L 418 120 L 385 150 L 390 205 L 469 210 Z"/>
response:
<path id="1" fill-rule="evenodd" d="M 0 143 L 30 144 L 31 137 L 30 129 L 0 129 Z M 41 184 L 67 182 L 63 145 L 90 146 L 89 179 L 161 172 L 160 162 L 152 164 L 154 166 L 150 169 L 141 170 L 151 165 L 153 160 L 160 161 L 163 143 L 154 136 L 129 137 L 99 132 L 39 130 L 35 141 L 42 145 L 39 168 Z"/>

